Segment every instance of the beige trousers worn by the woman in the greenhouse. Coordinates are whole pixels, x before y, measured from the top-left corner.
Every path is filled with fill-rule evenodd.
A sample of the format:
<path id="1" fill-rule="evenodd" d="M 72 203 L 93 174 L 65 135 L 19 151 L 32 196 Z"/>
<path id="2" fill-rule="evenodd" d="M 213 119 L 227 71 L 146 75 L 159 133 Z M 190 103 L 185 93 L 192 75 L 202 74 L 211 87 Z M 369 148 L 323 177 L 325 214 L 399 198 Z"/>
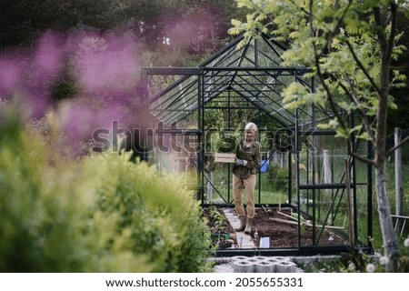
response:
<path id="1" fill-rule="evenodd" d="M 245 216 L 244 206 L 242 202 L 242 189 L 244 188 L 246 199 L 247 217 L 254 218 L 254 188 L 255 175 L 250 175 L 245 179 L 241 179 L 233 175 L 233 194 L 234 207 L 237 216 Z"/>

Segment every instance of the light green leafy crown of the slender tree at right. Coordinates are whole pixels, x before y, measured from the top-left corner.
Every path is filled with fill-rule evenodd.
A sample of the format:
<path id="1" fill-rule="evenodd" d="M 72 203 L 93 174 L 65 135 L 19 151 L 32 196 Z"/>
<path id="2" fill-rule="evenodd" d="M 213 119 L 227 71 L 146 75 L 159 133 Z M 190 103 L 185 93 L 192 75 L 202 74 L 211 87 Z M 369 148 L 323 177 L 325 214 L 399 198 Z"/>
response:
<path id="1" fill-rule="evenodd" d="M 381 71 L 384 68 L 388 71 L 388 68 L 379 61 L 384 54 L 379 35 L 387 38 L 392 29 L 387 22 L 382 27 L 375 25 L 376 9 L 385 14 L 385 19 L 390 19 L 388 15 L 392 14 L 389 5 L 383 1 L 358 4 L 347 0 L 327 0 L 317 5 L 303 0 L 238 0 L 237 3 L 239 7 L 253 9 L 253 13 L 247 15 L 245 22 L 234 20 L 231 34 L 244 32 L 243 43 L 260 32 L 272 35 L 289 44 L 282 55 L 282 65 L 302 64 L 312 69 L 304 75 L 305 78 L 318 77 L 314 92 L 307 92 L 299 83 L 284 89 L 283 101 L 288 108 L 314 104 L 338 113 L 358 111 L 365 118 L 377 115 L 379 102 L 384 98 L 380 93 L 381 86 L 383 90 L 405 86 L 405 75 L 397 69 L 391 69 L 389 82 L 382 80 L 385 75 Z M 401 36 L 396 34 L 394 43 L 397 44 Z M 398 59 L 405 49 L 404 45 L 394 45 L 391 60 Z M 387 105 L 396 108 L 394 98 L 385 97 L 388 98 Z M 335 106 L 330 106 L 330 100 Z M 357 135 L 361 129 L 345 128 L 341 115 L 337 115 L 336 119 L 325 120 L 325 125 L 338 130 L 340 136 Z M 360 132 L 359 137 L 370 138 L 368 133 Z"/>

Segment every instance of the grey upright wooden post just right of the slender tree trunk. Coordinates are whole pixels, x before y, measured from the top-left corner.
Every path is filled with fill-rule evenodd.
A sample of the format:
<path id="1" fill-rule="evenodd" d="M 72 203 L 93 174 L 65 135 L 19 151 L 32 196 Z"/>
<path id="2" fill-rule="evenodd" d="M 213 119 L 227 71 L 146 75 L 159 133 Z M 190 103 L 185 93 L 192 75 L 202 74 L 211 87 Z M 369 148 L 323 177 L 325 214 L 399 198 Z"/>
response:
<path id="1" fill-rule="evenodd" d="M 394 128 L 394 146 L 401 142 L 402 131 L 399 127 Z M 402 183 L 402 146 L 394 150 L 394 195 L 396 216 L 402 215 L 403 203 L 403 183 Z"/>

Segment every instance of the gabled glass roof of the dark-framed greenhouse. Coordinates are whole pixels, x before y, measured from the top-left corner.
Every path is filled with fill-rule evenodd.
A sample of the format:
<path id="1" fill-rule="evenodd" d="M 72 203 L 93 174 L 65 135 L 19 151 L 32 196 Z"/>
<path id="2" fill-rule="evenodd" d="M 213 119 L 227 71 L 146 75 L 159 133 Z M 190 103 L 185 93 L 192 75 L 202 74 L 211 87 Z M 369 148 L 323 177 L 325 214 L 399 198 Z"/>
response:
<path id="1" fill-rule="evenodd" d="M 244 42 L 243 35 L 195 68 L 146 69 L 147 75 L 182 75 L 160 93 L 148 96 L 152 114 L 170 124 L 218 95 L 230 92 L 243 97 L 281 125 L 294 126 L 294 112 L 284 108 L 281 92 L 294 80 L 311 86 L 302 79 L 307 68 L 281 66 L 285 47 L 265 35 L 241 42 Z M 309 115 L 306 111 L 303 113 Z"/>

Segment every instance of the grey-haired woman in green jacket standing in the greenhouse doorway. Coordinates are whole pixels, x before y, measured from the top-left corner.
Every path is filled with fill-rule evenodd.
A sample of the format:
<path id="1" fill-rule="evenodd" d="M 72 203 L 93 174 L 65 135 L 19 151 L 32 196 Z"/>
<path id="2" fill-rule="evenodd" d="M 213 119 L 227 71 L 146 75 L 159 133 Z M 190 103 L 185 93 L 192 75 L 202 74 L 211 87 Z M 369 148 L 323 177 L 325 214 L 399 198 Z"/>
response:
<path id="1" fill-rule="evenodd" d="M 260 167 L 261 145 L 255 141 L 258 129 L 250 122 L 244 127 L 244 140 L 236 148 L 236 159 L 233 166 L 233 194 L 234 207 L 240 218 L 240 226 L 235 231 L 244 231 L 250 234 L 252 231 L 254 210 L 255 174 Z M 246 212 L 242 202 L 242 189 L 245 192 Z"/>

